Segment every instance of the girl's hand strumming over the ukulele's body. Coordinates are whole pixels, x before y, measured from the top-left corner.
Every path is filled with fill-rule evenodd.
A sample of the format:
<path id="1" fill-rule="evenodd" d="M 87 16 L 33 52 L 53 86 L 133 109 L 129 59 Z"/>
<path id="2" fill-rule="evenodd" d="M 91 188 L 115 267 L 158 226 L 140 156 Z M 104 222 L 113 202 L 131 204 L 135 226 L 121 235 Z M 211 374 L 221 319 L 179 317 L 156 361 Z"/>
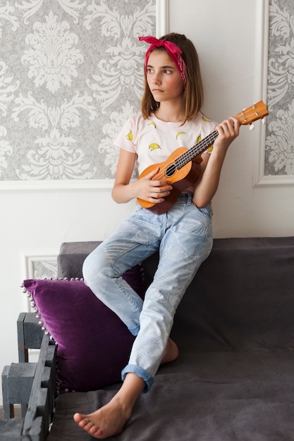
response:
<path id="1" fill-rule="evenodd" d="M 159 167 L 153 170 L 149 175 L 134 182 L 136 197 L 144 201 L 159 204 L 164 201 L 164 197 L 168 196 L 173 190 L 168 180 L 152 180 L 157 173 Z"/>

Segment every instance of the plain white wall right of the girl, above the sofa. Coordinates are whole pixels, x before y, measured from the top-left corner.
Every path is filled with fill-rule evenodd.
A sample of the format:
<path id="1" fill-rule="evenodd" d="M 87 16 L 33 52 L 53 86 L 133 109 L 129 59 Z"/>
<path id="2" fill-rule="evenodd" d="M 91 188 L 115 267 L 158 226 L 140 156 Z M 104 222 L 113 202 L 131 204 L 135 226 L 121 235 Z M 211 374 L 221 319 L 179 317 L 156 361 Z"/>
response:
<path id="1" fill-rule="evenodd" d="M 215 120 L 266 101 L 259 56 L 266 4 L 266 0 L 169 1 L 169 30 L 185 33 L 195 43 L 207 92 L 205 111 Z M 257 121 L 253 131 L 242 127 L 228 151 L 214 198 L 215 237 L 294 234 L 293 185 L 252 187 L 261 124 Z"/>

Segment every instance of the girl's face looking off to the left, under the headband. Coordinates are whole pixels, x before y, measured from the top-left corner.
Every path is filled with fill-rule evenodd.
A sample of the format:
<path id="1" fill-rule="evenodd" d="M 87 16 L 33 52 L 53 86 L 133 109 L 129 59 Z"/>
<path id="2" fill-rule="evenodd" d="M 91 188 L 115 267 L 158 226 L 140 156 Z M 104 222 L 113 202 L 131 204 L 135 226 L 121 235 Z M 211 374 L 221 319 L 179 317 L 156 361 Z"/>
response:
<path id="1" fill-rule="evenodd" d="M 183 96 L 184 85 L 175 63 L 166 51 L 154 49 L 147 62 L 147 83 L 157 102 Z"/>

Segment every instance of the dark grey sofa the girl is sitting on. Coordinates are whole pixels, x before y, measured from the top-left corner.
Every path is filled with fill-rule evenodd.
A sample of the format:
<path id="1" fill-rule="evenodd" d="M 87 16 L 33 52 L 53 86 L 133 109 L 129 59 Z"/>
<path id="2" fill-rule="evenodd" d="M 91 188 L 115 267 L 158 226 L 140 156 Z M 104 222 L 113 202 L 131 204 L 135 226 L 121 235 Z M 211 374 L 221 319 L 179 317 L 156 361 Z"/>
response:
<path id="1" fill-rule="evenodd" d="M 80 278 L 97 243 L 62 244 L 59 277 Z M 146 285 L 157 259 L 143 262 Z M 180 356 L 159 368 L 124 432 L 111 439 L 294 440 L 294 237 L 214 240 L 178 307 L 172 337 Z M 118 387 L 56 397 L 47 439 L 92 440 L 73 414 L 94 411 Z"/>

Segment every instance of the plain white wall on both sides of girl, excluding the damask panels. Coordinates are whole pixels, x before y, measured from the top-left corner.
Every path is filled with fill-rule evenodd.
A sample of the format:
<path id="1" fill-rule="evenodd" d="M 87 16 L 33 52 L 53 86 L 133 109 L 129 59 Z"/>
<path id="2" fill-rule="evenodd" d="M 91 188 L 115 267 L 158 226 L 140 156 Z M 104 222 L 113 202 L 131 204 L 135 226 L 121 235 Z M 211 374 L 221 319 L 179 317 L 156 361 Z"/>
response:
<path id="1" fill-rule="evenodd" d="M 208 116 L 222 120 L 260 96 L 256 41 L 262 0 L 170 0 L 169 30 L 185 33 L 200 54 Z M 260 23 L 262 25 L 262 23 Z M 252 187 L 255 131 L 241 128 L 231 147 L 214 199 L 214 236 L 293 235 L 293 187 Z M 61 242 L 103 240 L 133 209 L 118 206 L 110 190 L 0 192 L 0 370 L 18 361 L 16 320 L 26 299 L 23 256 L 57 254 Z"/>

